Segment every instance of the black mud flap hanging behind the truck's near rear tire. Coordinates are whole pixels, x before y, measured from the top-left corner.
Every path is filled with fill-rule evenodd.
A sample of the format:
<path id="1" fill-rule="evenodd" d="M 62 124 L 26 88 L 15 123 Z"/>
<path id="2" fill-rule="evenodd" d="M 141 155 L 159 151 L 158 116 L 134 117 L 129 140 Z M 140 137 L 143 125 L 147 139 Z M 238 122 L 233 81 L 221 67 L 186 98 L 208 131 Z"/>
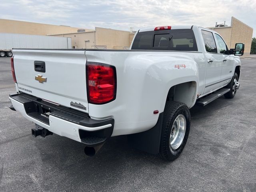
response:
<path id="1" fill-rule="evenodd" d="M 159 114 L 156 125 L 150 130 L 128 135 L 128 143 L 138 150 L 158 154 L 162 133 L 164 112 Z"/>

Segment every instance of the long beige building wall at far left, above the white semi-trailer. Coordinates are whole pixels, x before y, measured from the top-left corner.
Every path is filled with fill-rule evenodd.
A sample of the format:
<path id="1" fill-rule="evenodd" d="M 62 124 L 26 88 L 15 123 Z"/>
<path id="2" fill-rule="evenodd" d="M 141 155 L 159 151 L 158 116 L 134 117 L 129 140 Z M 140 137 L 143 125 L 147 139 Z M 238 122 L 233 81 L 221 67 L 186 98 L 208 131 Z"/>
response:
<path id="1" fill-rule="evenodd" d="M 0 32 L 2 33 L 47 35 L 47 34 L 75 33 L 77 32 L 78 29 L 81 29 L 81 28 L 0 19 Z M 94 31 L 90 29 L 85 29 L 85 30 Z"/>

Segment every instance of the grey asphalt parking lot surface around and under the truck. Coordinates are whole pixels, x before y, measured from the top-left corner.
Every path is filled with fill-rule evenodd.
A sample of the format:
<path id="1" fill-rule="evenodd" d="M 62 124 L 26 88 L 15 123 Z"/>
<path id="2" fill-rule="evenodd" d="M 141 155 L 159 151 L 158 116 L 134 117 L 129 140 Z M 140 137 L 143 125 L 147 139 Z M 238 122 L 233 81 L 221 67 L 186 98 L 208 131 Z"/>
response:
<path id="1" fill-rule="evenodd" d="M 84 145 L 34 127 L 8 108 L 10 58 L 0 58 L 0 191 L 256 191 L 256 58 L 242 59 L 240 89 L 193 107 L 190 136 L 174 162 L 113 137 L 94 157 Z"/>

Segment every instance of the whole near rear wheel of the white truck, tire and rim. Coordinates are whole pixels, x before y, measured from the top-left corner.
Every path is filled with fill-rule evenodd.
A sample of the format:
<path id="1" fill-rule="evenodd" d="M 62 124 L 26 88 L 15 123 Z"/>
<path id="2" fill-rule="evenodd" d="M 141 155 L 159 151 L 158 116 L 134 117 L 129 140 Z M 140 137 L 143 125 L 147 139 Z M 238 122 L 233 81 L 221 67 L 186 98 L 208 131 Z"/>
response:
<path id="1" fill-rule="evenodd" d="M 166 102 L 162 124 L 159 155 L 172 161 L 180 156 L 188 140 L 190 112 L 186 104 Z"/>

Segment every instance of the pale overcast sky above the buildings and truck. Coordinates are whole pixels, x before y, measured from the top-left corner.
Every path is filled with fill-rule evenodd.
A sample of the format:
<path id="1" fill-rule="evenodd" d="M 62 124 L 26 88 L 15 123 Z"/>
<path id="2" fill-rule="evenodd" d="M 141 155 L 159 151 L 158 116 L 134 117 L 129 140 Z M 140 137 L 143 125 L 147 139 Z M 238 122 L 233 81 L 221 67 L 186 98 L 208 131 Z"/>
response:
<path id="1" fill-rule="evenodd" d="M 256 0 L 6 0 L 0 7 L 4 19 L 89 29 L 210 27 L 224 21 L 230 25 L 234 16 L 254 28 L 256 37 Z"/>

